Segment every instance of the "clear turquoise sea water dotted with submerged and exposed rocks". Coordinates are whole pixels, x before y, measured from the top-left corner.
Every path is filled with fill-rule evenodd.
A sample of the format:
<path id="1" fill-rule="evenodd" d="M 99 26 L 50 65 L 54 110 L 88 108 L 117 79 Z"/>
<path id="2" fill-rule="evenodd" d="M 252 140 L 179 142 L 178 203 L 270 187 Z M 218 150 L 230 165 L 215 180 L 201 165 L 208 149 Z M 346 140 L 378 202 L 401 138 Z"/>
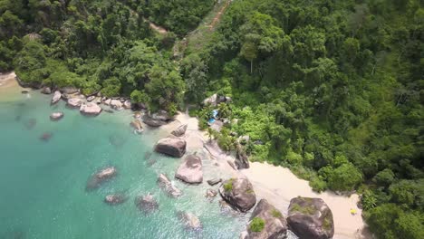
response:
<path id="1" fill-rule="evenodd" d="M 157 162 L 149 166 L 145 153 L 159 139 L 159 129 L 135 135 L 130 111 L 91 118 L 66 109 L 63 101 L 57 106 L 49 101 L 36 92 L 0 100 L 0 238 L 238 238 L 246 228 L 248 215 L 227 215 L 219 196 L 213 202 L 205 198 L 206 182 L 188 186 L 173 179 L 181 159 L 153 153 L 150 159 Z M 49 119 L 55 110 L 64 112 L 62 120 Z M 43 141 L 46 132 L 53 137 Z M 199 153 L 205 155 L 205 181 L 223 176 Z M 107 166 L 117 167 L 118 176 L 86 191 L 89 177 Z M 166 196 L 156 184 L 159 173 L 183 196 Z M 129 200 L 103 203 L 114 192 L 125 192 Z M 159 211 L 144 215 L 134 199 L 148 193 L 159 201 Z M 198 215 L 203 229 L 185 230 L 177 211 Z"/>

